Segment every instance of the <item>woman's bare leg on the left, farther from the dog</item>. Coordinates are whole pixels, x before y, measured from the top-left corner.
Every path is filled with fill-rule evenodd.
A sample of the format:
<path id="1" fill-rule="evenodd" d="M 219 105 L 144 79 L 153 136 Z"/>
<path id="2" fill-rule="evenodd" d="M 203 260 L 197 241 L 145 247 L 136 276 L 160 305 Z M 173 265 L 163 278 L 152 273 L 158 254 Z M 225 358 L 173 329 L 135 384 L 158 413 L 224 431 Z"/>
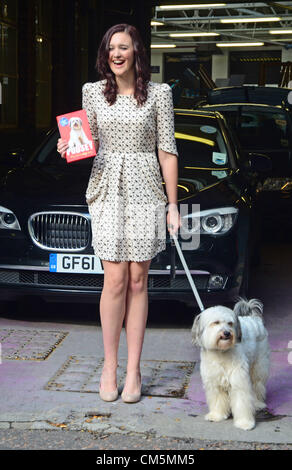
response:
<path id="1" fill-rule="evenodd" d="M 101 388 L 112 392 L 117 387 L 120 334 L 125 316 L 128 262 L 103 261 L 104 285 L 100 298 L 100 320 L 104 345 Z"/>

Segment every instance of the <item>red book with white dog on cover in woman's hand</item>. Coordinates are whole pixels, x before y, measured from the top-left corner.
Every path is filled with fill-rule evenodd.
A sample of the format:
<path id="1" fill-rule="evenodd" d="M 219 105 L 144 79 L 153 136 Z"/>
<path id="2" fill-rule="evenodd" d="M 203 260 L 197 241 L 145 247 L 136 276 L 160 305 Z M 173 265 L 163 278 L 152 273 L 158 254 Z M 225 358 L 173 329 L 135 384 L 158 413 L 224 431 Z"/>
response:
<path id="1" fill-rule="evenodd" d="M 57 124 L 62 139 L 67 140 L 67 163 L 95 157 L 96 150 L 92 139 L 85 109 L 57 116 Z"/>

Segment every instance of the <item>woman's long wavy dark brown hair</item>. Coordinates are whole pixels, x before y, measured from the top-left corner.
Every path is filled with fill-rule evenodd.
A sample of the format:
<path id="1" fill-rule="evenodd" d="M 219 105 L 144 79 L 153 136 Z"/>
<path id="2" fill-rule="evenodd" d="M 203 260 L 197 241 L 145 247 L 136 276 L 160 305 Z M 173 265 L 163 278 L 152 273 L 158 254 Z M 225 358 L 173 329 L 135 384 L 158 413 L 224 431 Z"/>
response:
<path id="1" fill-rule="evenodd" d="M 104 96 L 110 105 L 114 104 L 117 98 L 117 83 L 114 73 L 108 65 L 109 45 L 113 34 L 125 32 L 132 38 L 134 47 L 134 71 L 135 71 L 135 91 L 134 97 L 139 106 L 147 100 L 147 84 L 150 80 L 150 64 L 141 36 L 135 26 L 121 23 L 109 28 L 102 38 L 98 49 L 96 69 L 100 78 L 106 79 Z"/>

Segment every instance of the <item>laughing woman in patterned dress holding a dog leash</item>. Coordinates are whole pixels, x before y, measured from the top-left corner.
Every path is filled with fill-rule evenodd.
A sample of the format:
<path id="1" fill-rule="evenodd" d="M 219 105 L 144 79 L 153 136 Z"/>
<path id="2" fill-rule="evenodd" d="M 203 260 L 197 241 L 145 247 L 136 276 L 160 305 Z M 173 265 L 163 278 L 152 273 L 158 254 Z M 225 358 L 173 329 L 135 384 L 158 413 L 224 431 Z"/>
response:
<path id="1" fill-rule="evenodd" d="M 96 67 L 102 80 L 86 83 L 82 92 L 98 152 L 86 200 L 92 245 L 104 268 L 100 299 L 104 367 L 99 392 L 105 401 L 118 397 L 118 347 L 125 320 L 128 362 L 122 399 L 134 403 L 141 397 L 148 270 L 151 259 L 165 249 L 159 208 L 165 222 L 167 200 L 170 233 L 181 225 L 173 103 L 169 85 L 150 81 L 147 55 L 134 26 L 118 24 L 106 32 Z M 67 147 L 66 141 L 58 140 L 63 158 Z"/>

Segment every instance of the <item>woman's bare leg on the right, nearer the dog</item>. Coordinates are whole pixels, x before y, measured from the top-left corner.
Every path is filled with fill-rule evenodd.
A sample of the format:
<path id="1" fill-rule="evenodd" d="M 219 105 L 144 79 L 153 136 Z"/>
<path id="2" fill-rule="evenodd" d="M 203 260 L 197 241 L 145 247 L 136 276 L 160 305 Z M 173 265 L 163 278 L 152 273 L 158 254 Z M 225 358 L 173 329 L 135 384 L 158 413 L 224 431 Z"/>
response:
<path id="1" fill-rule="evenodd" d="M 148 271 L 151 260 L 129 262 L 129 281 L 126 300 L 125 329 L 128 345 L 126 394 L 140 391 L 140 359 L 148 317 Z"/>

